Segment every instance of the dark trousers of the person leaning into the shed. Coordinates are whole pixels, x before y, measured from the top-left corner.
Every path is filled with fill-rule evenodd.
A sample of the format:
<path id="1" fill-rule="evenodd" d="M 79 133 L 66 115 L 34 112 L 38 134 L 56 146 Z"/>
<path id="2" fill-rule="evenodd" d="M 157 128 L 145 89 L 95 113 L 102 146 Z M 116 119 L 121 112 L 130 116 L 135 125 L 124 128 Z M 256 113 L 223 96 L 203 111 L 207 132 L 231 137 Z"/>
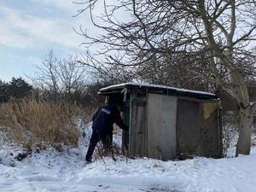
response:
<path id="1" fill-rule="evenodd" d="M 104 131 L 92 130 L 90 137 L 90 144 L 85 156 L 85 160 L 91 160 L 91 156 L 94 152 L 94 149 L 99 141 L 102 141 L 103 147 L 105 150 L 109 151 L 112 146 L 112 134 Z"/>

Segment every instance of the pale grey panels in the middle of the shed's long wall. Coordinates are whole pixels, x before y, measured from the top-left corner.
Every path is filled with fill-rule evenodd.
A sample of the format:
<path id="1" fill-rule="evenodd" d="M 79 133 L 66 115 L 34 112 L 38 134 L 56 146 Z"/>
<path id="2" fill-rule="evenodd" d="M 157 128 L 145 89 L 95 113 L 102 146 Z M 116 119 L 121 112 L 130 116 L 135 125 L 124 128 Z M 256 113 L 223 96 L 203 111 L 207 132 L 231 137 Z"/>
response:
<path id="1" fill-rule="evenodd" d="M 177 97 L 148 94 L 148 157 L 176 157 Z"/>

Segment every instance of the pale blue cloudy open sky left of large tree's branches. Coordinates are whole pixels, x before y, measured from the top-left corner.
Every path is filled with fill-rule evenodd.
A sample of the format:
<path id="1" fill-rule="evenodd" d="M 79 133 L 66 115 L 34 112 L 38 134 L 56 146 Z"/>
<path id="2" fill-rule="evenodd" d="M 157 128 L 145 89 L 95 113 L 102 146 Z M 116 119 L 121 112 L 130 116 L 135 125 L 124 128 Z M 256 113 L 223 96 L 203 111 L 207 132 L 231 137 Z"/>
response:
<path id="1" fill-rule="evenodd" d="M 73 28 L 93 26 L 89 14 L 74 17 L 82 8 L 72 0 L 1 0 L 0 79 L 33 76 L 49 49 L 60 57 L 83 53 Z"/>

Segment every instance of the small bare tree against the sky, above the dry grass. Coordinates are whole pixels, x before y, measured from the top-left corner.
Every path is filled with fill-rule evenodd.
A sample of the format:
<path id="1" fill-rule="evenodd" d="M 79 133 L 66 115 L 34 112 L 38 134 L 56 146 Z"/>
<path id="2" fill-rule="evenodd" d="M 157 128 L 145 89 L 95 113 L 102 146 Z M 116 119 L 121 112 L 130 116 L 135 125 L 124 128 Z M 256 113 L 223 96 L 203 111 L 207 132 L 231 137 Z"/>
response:
<path id="1" fill-rule="evenodd" d="M 74 95 L 84 91 L 86 67 L 79 64 L 77 56 L 69 55 L 67 59 L 58 59 L 53 50 L 49 50 L 37 69 L 36 76 L 30 79 L 55 100 L 64 98 L 70 102 Z"/>

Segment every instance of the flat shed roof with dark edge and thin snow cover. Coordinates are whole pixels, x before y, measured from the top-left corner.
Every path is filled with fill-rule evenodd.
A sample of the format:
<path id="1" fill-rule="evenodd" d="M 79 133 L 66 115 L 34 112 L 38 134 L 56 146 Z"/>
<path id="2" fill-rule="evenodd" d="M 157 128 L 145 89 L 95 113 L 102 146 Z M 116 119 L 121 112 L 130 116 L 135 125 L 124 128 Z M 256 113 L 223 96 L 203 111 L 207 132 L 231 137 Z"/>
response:
<path id="1" fill-rule="evenodd" d="M 201 98 L 201 99 L 217 98 L 215 94 L 212 94 L 206 91 L 201 91 L 201 90 L 187 90 L 187 89 L 180 89 L 180 88 L 165 86 L 160 84 L 141 84 L 141 83 L 134 83 L 134 82 L 128 82 L 125 84 L 113 84 L 111 86 L 108 86 L 99 90 L 99 94 L 108 95 L 113 92 L 123 90 L 124 88 L 162 90 L 163 93 L 172 95 L 172 96 L 192 96 L 192 97 Z"/>

